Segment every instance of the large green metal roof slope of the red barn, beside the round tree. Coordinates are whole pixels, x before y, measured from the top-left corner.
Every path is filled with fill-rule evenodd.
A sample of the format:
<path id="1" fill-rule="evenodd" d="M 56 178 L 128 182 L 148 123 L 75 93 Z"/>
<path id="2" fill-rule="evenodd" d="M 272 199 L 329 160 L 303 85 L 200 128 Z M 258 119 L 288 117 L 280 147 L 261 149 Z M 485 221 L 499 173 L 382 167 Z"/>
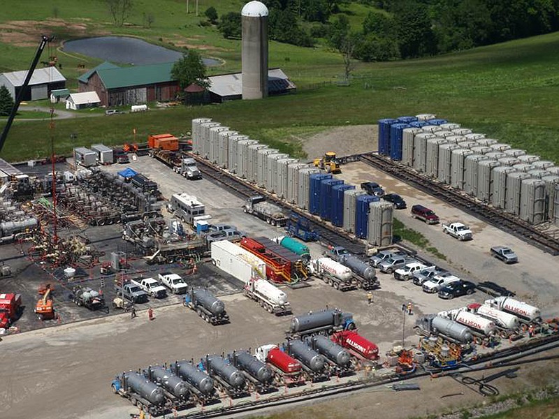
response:
<path id="1" fill-rule="evenodd" d="M 96 73 L 107 89 L 119 87 L 143 86 L 145 84 L 173 81 L 170 75 L 175 63 L 148 64 L 123 68 L 103 68 Z"/>

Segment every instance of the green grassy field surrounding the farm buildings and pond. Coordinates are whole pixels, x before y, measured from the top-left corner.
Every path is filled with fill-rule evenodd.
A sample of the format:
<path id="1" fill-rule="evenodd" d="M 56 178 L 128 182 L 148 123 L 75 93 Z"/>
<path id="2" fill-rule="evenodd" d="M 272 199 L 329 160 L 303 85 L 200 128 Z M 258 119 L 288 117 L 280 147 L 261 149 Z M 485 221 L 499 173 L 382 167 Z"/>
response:
<path id="1" fill-rule="evenodd" d="M 60 0 L 59 3 L 74 2 Z M 221 14 L 238 10 L 242 1 L 203 3 L 201 9 L 214 4 Z M 240 69 L 240 41 L 224 40 L 217 29 L 198 26 L 201 17 L 195 17 L 194 13 L 182 14 L 184 1 L 138 1 L 136 16 L 131 17 L 136 25 L 123 28 L 112 27 L 100 0 L 92 1 L 92 5 L 95 7 L 87 10 L 89 20 L 86 22 L 97 31 L 143 36 L 150 41 L 162 38 L 164 43 L 180 39 L 203 46 L 207 56 L 226 60 L 225 66 L 214 68 L 212 72 Z M 142 5 L 145 13 L 154 13 L 152 29 L 141 26 L 138 13 Z M 34 9 L 27 18 L 38 18 L 41 13 L 52 16 L 51 9 L 48 6 Z M 61 19 L 69 19 L 73 13 L 71 8 L 63 11 L 59 6 L 59 9 Z M 10 10 L 1 19 L 25 17 L 22 10 Z M 0 53 L 10 48 L 0 44 Z M 13 68 L 17 64 L 17 68 L 24 68 L 33 50 L 32 47 L 15 48 L 17 52 L 10 55 L 13 62 L 9 61 L 9 66 Z M 157 110 L 143 115 L 60 120 L 54 131 L 56 149 L 58 153 L 68 153 L 75 145 L 133 141 L 133 128 L 137 130 L 138 142 L 145 141 L 149 133 L 178 135 L 190 130 L 192 118 L 212 117 L 256 140 L 300 156 L 300 145 L 291 141 L 293 135 L 304 137 L 330 126 L 373 124 L 382 117 L 433 112 L 451 122 L 484 132 L 488 137 L 559 161 L 559 147 L 556 147 L 558 50 L 559 34 L 549 34 L 430 59 L 360 63 L 351 85 L 337 87 L 335 82 L 342 73 L 339 54 L 320 45 L 301 48 L 270 42 L 270 67 L 281 66 L 298 85 L 297 94 L 262 101 Z M 66 64 L 64 66 L 66 68 Z M 71 67 L 68 76 L 72 77 L 74 66 L 68 64 L 68 67 Z M 313 83 L 324 84 L 324 87 L 312 89 Z M 71 140 L 71 134 L 78 134 L 77 140 Z M 49 149 L 45 138 L 50 138 L 47 123 L 16 122 L 1 156 L 12 161 L 42 156 Z"/>

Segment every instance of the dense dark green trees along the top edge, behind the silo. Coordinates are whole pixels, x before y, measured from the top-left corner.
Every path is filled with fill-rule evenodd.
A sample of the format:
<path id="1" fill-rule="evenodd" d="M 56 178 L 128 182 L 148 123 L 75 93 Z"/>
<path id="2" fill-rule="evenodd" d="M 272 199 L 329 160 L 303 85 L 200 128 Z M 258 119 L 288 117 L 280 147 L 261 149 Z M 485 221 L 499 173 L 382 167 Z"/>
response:
<path id="1" fill-rule="evenodd" d="M 326 42 L 363 61 L 443 54 L 559 29 L 559 0 L 263 0 L 270 39 L 303 47 Z M 372 6 L 352 27 L 349 3 Z M 225 38 L 240 38 L 240 13 L 217 19 Z"/>

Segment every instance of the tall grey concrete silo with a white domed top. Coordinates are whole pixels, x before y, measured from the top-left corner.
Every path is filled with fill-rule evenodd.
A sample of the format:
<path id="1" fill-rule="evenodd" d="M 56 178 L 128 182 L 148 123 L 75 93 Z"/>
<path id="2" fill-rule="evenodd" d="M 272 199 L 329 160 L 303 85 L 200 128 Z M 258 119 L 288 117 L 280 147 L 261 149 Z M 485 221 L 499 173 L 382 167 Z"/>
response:
<path id="1" fill-rule="evenodd" d="M 242 98 L 268 96 L 268 8 L 250 1 L 241 10 Z"/>

